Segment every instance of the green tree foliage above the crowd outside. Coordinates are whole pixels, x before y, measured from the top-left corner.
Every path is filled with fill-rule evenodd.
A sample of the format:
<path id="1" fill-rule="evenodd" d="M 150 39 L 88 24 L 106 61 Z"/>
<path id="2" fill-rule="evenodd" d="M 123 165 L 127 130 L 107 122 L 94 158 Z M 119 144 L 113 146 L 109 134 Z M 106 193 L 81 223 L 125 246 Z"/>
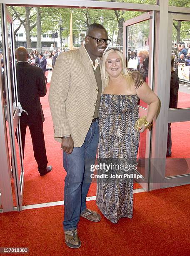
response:
<path id="1" fill-rule="evenodd" d="M 105 0 L 104 0 L 105 1 Z M 140 3 L 140 4 L 155 4 L 156 0 L 107 0 L 111 2 L 122 2 L 122 3 Z M 169 0 L 169 4 L 173 6 L 190 7 L 190 0 Z M 16 13 L 15 13 L 15 11 Z M 25 22 L 25 8 L 9 6 L 8 9 L 13 15 L 14 23 L 20 24 L 19 18 Z M 59 20 L 62 20 L 62 37 L 66 37 L 70 33 L 70 15 L 72 15 L 73 24 L 73 34 L 78 37 L 82 31 L 86 31 L 91 23 L 100 23 L 100 16 L 104 17 L 103 26 L 108 31 L 108 35 L 113 39 L 113 35 L 122 30 L 122 27 L 118 26 L 118 21 L 122 18 L 124 20 L 129 20 L 138 15 L 143 14 L 139 11 L 123 11 L 123 10 L 100 10 L 100 9 L 84 9 L 84 8 L 50 8 L 41 7 L 41 26 L 42 33 L 55 33 L 60 35 L 60 26 L 58 24 Z M 36 22 L 36 9 L 30 7 L 30 26 Z M 177 21 L 174 21 L 174 25 Z M 190 22 L 181 22 L 180 28 L 180 39 L 185 41 L 190 36 Z M 134 26 L 132 37 L 137 36 L 139 31 L 143 32 L 143 36 L 148 38 L 148 27 L 144 26 L 143 23 L 139 23 Z M 32 32 L 36 33 L 36 27 L 32 29 Z M 115 39 L 115 38 L 114 38 Z M 173 41 L 177 40 L 177 27 L 173 26 Z"/>

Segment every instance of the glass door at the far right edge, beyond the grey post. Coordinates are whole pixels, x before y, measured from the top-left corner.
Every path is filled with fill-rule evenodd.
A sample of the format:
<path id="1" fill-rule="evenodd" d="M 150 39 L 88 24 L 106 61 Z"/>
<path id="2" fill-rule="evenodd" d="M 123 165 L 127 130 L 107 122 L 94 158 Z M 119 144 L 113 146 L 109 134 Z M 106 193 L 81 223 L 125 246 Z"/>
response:
<path id="1" fill-rule="evenodd" d="M 161 187 L 190 183 L 190 15 L 169 14 L 165 173 Z M 171 62 L 173 59 L 173 63 Z"/>

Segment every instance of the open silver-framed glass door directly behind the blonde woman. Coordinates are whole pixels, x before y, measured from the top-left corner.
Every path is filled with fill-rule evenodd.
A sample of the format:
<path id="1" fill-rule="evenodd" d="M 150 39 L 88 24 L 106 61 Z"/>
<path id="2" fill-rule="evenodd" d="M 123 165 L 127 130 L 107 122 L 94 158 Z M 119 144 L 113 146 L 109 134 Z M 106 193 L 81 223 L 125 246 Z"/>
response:
<path id="1" fill-rule="evenodd" d="M 127 67 L 130 70 L 138 70 L 151 89 L 153 89 L 154 23 L 155 11 L 151 11 L 126 20 L 123 30 L 123 53 Z M 147 115 L 147 104 L 140 100 L 138 105 L 140 117 Z M 151 132 L 140 133 L 136 174 L 141 175 L 142 178 L 138 179 L 138 183 L 145 191 L 149 189 L 150 139 Z"/>

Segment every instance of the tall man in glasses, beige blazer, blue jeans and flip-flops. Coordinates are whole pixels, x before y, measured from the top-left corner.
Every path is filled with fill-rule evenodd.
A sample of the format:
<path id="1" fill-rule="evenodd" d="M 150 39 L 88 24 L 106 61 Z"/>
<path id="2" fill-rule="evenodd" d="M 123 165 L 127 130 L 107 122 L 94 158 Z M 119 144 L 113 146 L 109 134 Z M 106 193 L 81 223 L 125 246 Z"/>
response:
<path id="1" fill-rule="evenodd" d="M 97 212 L 86 208 L 86 196 L 91 182 L 90 165 L 95 163 L 99 139 L 100 97 L 105 89 L 99 60 L 109 43 L 105 28 L 91 24 L 85 46 L 60 54 L 52 74 L 49 103 L 54 137 L 61 142 L 63 166 L 67 172 L 63 226 L 65 243 L 71 248 L 81 246 L 77 235 L 80 216 L 100 221 Z M 143 77 L 138 75 L 137 78 L 142 84 Z"/>

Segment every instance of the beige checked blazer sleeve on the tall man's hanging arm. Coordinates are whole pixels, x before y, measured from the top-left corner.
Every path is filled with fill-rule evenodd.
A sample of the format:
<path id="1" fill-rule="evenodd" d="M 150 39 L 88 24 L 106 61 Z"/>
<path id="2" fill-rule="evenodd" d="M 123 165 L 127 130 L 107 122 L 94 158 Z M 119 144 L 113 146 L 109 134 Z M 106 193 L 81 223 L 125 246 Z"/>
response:
<path id="1" fill-rule="evenodd" d="M 65 101 L 67 100 L 69 87 L 70 64 L 65 54 L 60 54 L 53 69 L 49 92 L 49 104 L 55 138 L 61 138 L 71 134 L 65 109 Z M 64 140 L 68 140 L 68 138 Z"/>

